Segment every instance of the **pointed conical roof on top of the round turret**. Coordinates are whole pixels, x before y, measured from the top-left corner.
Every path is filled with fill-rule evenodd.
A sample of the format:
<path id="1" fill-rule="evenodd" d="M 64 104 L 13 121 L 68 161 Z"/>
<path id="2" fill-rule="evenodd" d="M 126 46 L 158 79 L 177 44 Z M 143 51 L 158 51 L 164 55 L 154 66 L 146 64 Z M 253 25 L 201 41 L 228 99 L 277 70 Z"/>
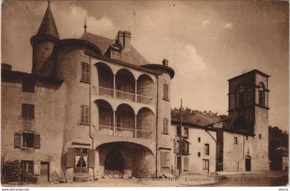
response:
<path id="1" fill-rule="evenodd" d="M 55 19 L 53 19 L 49 1 L 48 8 L 46 9 L 46 14 L 44 14 L 37 34 L 59 40 L 59 33 L 57 32 L 57 26 L 55 26 Z"/>

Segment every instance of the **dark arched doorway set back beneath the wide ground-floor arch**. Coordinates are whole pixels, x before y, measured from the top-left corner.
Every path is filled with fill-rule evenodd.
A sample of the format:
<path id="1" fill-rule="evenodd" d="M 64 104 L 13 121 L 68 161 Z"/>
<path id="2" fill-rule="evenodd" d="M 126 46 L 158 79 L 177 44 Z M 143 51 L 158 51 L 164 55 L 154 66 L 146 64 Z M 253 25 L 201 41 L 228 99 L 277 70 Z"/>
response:
<path id="1" fill-rule="evenodd" d="M 108 178 L 123 178 L 124 159 L 122 154 L 116 150 L 110 150 L 105 159 L 105 174 Z"/>

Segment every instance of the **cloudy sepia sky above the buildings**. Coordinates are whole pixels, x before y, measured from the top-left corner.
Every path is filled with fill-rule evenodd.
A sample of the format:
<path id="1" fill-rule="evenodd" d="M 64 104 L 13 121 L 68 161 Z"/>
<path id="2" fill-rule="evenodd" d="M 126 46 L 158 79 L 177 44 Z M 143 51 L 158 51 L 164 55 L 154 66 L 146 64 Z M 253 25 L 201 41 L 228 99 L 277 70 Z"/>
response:
<path id="1" fill-rule="evenodd" d="M 151 63 L 175 70 L 171 106 L 227 114 L 228 79 L 253 69 L 269 78 L 269 125 L 289 127 L 289 5 L 286 1 L 51 1 L 61 39 L 88 32 L 132 44 Z M 1 62 L 31 72 L 30 37 L 46 1 L 6 1 L 1 10 Z"/>

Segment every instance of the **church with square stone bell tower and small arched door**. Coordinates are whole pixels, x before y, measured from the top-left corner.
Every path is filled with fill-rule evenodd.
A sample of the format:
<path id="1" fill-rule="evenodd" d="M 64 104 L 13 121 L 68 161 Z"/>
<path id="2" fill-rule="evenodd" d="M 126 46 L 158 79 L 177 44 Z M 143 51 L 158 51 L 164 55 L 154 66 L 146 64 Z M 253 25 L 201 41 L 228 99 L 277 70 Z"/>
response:
<path id="1" fill-rule="evenodd" d="M 217 170 L 269 170 L 268 77 L 253 70 L 229 80 L 229 118 L 214 124 L 220 128 Z"/>

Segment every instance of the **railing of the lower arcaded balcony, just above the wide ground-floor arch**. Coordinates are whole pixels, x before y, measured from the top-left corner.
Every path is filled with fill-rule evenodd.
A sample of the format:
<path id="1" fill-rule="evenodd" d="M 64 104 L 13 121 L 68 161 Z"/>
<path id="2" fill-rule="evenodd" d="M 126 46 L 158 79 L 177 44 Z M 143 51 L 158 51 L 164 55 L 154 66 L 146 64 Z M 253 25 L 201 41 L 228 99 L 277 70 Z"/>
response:
<path id="1" fill-rule="evenodd" d="M 100 134 L 108 134 L 117 137 L 132 137 L 142 139 L 152 139 L 153 131 L 137 130 L 135 128 L 113 127 L 108 125 L 99 125 L 97 128 Z"/>

